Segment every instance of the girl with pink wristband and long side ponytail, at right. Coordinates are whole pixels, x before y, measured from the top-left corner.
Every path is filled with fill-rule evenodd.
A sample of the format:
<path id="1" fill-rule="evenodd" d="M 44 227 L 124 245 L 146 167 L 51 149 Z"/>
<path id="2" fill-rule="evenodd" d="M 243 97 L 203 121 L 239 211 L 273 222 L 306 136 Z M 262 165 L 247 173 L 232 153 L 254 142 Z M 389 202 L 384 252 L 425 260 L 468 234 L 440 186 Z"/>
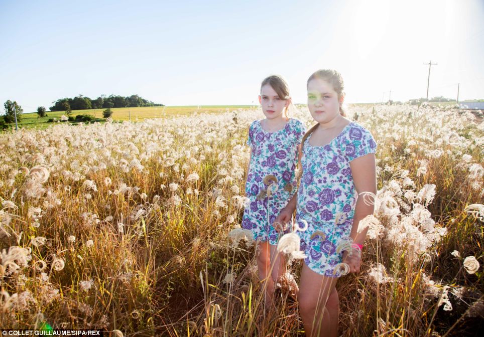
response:
<path id="1" fill-rule="evenodd" d="M 298 295 L 306 335 L 337 336 L 335 285 L 340 272 L 335 267 L 344 262 L 349 272 L 359 272 L 366 230 L 358 234 L 358 223 L 373 214 L 374 205 L 358 195 L 377 193 L 377 144 L 367 129 L 345 117 L 343 80 L 338 72 L 316 71 L 307 81 L 307 91 L 308 108 L 317 123 L 302 140 L 297 202 L 292 198 L 277 221 L 288 222 L 297 208 L 297 221 L 308 224 L 299 233 L 301 250 L 307 256 Z M 338 253 L 338 244 L 348 236 L 353 245 L 347 251 L 352 254 Z"/>

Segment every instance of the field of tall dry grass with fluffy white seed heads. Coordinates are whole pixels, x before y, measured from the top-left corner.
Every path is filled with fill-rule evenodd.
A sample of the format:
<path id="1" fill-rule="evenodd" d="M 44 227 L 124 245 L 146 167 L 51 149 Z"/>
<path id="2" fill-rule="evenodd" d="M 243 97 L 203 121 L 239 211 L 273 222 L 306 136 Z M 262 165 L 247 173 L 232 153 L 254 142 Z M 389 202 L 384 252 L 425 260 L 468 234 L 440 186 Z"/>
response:
<path id="1" fill-rule="evenodd" d="M 375 218 L 342 276 L 342 336 L 484 327 L 484 123 L 451 107 L 352 106 L 378 142 Z M 116 336 L 304 335 L 264 310 L 240 229 L 248 127 L 234 110 L 0 134 L 0 327 Z M 296 117 L 313 124 L 301 108 Z M 300 260 L 290 266 L 298 279 Z"/>

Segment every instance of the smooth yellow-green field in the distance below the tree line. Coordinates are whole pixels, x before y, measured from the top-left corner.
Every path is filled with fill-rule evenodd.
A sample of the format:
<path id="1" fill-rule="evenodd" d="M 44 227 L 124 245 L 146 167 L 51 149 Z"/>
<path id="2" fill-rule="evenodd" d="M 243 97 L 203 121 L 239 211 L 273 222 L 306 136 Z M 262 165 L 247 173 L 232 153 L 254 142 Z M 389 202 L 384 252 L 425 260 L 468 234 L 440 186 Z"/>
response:
<path id="1" fill-rule="evenodd" d="M 175 115 L 189 115 L 195 112 L 198 113 L 219 113 L 227 110 L 249 109 L 250 105 L 206 105 L 206 106 L 146 106 L 134 108 L 112 108 L 113 120 L 132 120 L 142 121 L 145 118 L 160 118 Z M 92 115 L 96 118 L 102 119 L 102 111 L 104 109 L 89 109 L 89 110 L 73 110 L 72 116 L 76 115 Z M 48 111 L 46 117 L 39 117 L 36 112 L 23 113 L 22 121 L 19 122 L 19 127 L 24 128 L 40 128 L 44 129 L 53 123 L 48 123 L 50 118 L 60 119 L 65 115 L 65 111 Z M 103 120 L 101 120 L 103 122 Z M 77 122 L 69 122 L 70 124 L 77 124 Z M 11 124 L 15 126 L 15 124 Z"/>

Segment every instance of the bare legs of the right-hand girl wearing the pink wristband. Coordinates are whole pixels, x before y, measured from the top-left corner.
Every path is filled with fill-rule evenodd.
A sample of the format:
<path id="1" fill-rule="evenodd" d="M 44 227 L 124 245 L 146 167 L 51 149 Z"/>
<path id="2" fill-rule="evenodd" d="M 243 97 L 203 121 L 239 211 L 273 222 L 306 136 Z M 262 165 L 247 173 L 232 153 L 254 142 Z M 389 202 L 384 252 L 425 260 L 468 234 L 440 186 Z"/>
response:
<path id="1" fill-rule="evenodd" d="M 303 264 L 298 300 L 304 330 L 308 337 L 337 336 L 337 280 L 335 277 L 320 275 Z"/>

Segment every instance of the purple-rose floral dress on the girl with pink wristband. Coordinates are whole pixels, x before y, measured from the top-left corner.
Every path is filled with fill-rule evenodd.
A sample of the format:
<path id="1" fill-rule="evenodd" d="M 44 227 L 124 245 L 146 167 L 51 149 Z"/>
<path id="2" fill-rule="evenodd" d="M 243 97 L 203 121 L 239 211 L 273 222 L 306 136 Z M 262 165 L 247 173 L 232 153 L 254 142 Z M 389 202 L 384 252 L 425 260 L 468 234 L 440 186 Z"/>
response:
<path id="1" fill-rule="evenodd" d="M 334 266 L 341 263 L 336 247 L 342 237 L 349 236 L 353 225 L 357 193 L 351 176 L 350 161 L 368 153 L 376 153 L 377 143 L 363 126 L 351 122 L 324 146 L 303 145 L 303 174 L 297 197 L 298 225 L 304 219 L 308 229 L 298 232 L 306 265 L 329 277 Z"/>

